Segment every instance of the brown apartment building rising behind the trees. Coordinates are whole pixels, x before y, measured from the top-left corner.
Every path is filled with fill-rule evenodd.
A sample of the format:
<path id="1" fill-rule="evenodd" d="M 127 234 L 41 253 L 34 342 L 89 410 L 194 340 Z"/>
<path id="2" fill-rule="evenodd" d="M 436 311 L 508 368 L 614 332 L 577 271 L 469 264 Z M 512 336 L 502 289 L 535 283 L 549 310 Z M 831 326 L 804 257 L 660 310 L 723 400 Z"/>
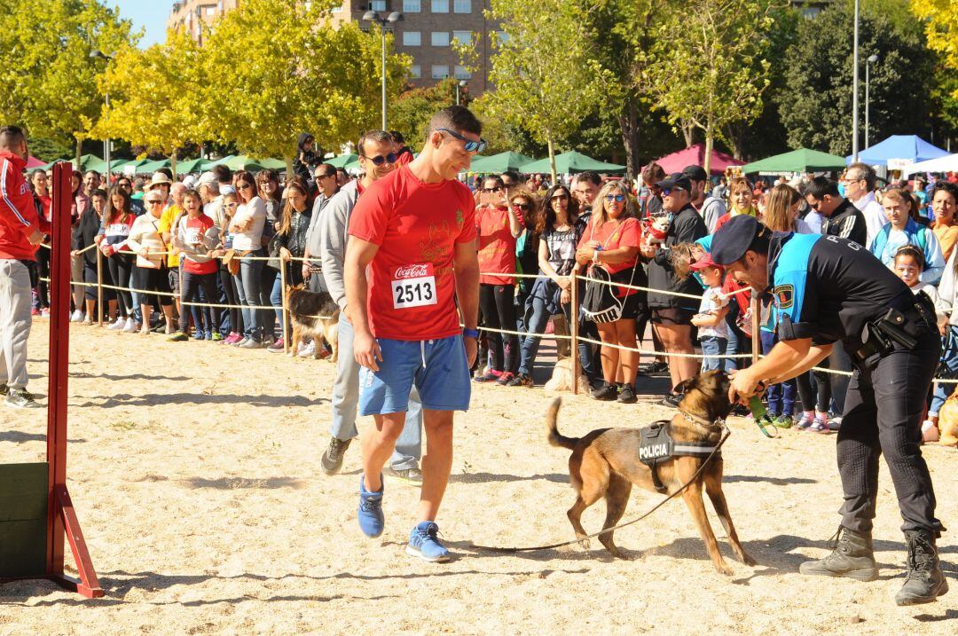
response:
<path id="1" fill-rule="evenodd" d="M 290 2 L 295 0 L 290 0 Z M 491 55 L 490 40 L 498 37 L 484 11 L 490 0 L 344 0 L 332 10 L 335 22 L 353 21 L 363 29 L 374 28 L 363 21 L 366 11 L 383 17 L 392 11 L 403 19 L 387 27 L 396 38 L 396 50 L 412 57 L 409 81 L 429 86 L 449 77 L 467 82 L 475 97 L 487 88 Z M 224 11 L 235 9 L 241 0 L 179 0 L 173 3 L 169 28 L 185 28 L 202 44 L 202 24 L 212 24 Z M 470 73 L 453 48 L 456 41 L 476 41 L 477 70 Z"/>

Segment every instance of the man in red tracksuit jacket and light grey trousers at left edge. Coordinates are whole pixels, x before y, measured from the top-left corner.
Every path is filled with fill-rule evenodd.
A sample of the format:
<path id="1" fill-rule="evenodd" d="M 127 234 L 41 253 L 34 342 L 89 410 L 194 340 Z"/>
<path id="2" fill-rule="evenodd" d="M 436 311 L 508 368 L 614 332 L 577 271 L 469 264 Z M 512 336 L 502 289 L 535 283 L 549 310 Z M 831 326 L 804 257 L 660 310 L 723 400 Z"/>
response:
<path id="1" fill-rule="evenodd" d="M 34 195 L 23 179 L 28 156 L 23 130 L 0 128 L 0 397 L 17 408 L 38 406 L 27 391 L 31 272 L 36 247 L 50 232 L 50 223 L 37 216 Z"/>

